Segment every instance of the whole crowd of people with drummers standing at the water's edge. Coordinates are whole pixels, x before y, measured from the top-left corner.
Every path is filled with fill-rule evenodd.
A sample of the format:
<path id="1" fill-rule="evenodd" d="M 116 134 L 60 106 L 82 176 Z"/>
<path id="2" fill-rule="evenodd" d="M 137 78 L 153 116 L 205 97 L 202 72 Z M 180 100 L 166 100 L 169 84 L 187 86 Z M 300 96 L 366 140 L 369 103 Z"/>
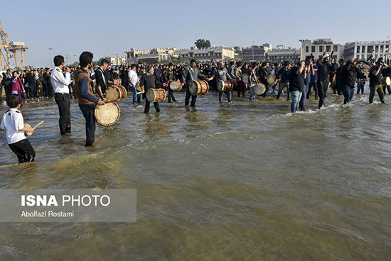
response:
<path id="1" fill-rule="evenodd" d="M 11 150 L 18 156 L 19 162 L 33 161 L 35 152 L 26 139 L 24 131 L 33 132 L 35 128 L 25 127 L 20 109 L 23 99 L 37 99 L 40 97 L 54 98 L 58 104 L 60 114 L 60 135 L 71 133 L 70 99 L 78 100 L 80 111 L 85 117 L 86 143 L 92 146 L 95 140 L 95 106 L 105 105 L 105 92 L 111 85 L 122 85 L 127 91 L 132 91 L 134 106 L 141 104 L 148 89 L 164 88 L 168 102 L 177 102 L 170 84 L 184 87 L 186 90 L 185 106 L 195 106 L 197 94 L 190 90 L 194 81 L 206 81 L 210 91 L 218 91 L 218 101 L 223 103 L 226 94 L 228 103 L 232 102 L 232 94 L 245 97 L 247 92 L 249 101 L 272 96 L 279 99 L 286 89 L 286 99 L 291 99 L 291 112 L 305 111 L 306 99 L 310 99 L 311 89 L 318 99 L 318 109 L 324 106 L 328 89 L 333 94 L 344 96 L 344 104 L 348 104 L 355 92 L 363 94 L 365 81 L 369 78 L 370 97 L 373 103 L 375 92 L 379 95 L 382 104 L 385 104 L 384 95 L 387 89 L 391 94 L 390 78 L 388 85 L 385 77 L 391 77 L 391 67 L 382 58 L 374 64 L 358 61 L 354 58 L 336 62 L 324 52 L 322 57 L 314 60 L 313 56 L 305 60 L 294 62 L 252 62 L 242 61 L 225 62 L 197 62 L 191 60 L 189 65 L 122 65 L 111 67 L 105 59 L 99 65 L 92 65 L 91 52 L 82 52 L 79 67 L 66 67 L 64 57 L 54 57 L 53 70 L 38 68 L 23 72 L 7 70 L 0 77 L 0 90 L 4 89 L 6 103 L 10 107 L 4 113 L 1 128 L 6 130 L 6 138 Z M 275 81 L 270 84 L 269 77 Z M 219 89 L 218 84 L 229 85 L 230 89 Z M 264 92 L 256 98 L 255 87 L 261 84 Z M 182 89 L 182 88 L 179 88 Z M 1 96 L 1 95 L 0 95 Z M 145 113 L 149 113 L 150 101 L 145 101 Z M 159 102 L 154 101 L 156 112 L 160 111 Z"/>

